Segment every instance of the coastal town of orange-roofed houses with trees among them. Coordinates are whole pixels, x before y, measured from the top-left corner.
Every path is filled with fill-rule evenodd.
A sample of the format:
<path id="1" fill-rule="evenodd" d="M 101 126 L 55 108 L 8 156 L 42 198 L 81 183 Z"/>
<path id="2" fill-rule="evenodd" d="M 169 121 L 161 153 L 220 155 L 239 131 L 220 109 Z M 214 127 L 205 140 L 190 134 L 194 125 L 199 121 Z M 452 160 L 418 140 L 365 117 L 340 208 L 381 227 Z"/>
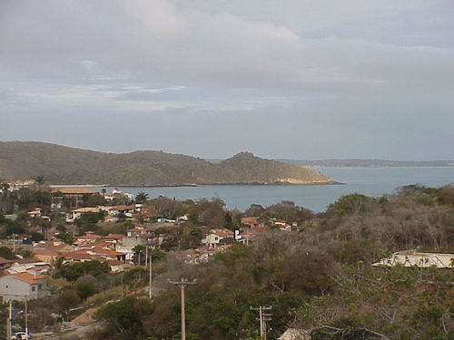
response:
<path id="1" fill-rule="evenodd" d="M 222 210 L 219 199 L 192 202 L 189 209 L 182 209 L 181 202 L 148 199 L 143 192 L 134 197 L 119 189 L 99 192 L 51 187 L 43 179 L 5 181 L 0 195 L 0 216 L 7 226 L 0 240 L 0 296 L 4 303 L 52 296 L 54 277 L 68 280 L 58 273 L 62 267 L 97 263 L 115 275 L 154 266 L 165 256 L 196 265 L 234 244 L 249 246 L 272 230 L 299 227 L 296 220 L 262 219 L 239 211 L 231 215 Z M 179 207 L 163 209 L 169 204 Z M 203 204 L 205 209 L 194 212 L 193 207 Z M 203 218 L 207 212 L 212 220 Z M 316 220 L 314 217 L 311 223 Z M 9 336 L 13 324 L 11 320 Z M 25 325 L 27 334 L 28 328 Z M 45 330 L 46 325 L 41 328 Z"/>

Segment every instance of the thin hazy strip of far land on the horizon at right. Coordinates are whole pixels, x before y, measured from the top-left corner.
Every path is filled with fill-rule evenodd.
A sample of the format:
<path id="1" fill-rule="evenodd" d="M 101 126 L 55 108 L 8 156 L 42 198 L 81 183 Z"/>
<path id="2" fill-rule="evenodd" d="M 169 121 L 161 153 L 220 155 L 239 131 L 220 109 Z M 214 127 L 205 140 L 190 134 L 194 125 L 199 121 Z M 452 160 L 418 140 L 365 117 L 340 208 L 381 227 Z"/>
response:
<path id="1" fill-rule="evenodd" d="M 279 161 L 306 167 L 454 167 L 454 160 L 285 160 Z"/>

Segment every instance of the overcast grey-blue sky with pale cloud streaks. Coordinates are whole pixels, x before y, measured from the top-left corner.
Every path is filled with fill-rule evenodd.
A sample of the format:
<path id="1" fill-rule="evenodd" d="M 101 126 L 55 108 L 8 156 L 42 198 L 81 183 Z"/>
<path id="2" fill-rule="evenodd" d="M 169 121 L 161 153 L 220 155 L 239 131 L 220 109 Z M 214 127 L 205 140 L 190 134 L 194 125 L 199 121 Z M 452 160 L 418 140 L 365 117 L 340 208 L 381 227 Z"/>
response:
<path id="1" fill-rule="evenodd" d="M 454 2 L 0 1 L 0 141 L 454 159 Z"/>

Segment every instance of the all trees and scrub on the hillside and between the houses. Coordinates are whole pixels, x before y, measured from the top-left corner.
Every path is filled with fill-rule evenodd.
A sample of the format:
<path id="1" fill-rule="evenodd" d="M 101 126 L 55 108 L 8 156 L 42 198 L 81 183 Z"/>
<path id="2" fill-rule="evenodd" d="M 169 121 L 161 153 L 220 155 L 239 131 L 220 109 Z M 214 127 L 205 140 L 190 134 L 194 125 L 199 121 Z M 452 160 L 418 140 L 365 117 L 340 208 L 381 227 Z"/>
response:
<path id="1" fill-rule="evenodd" d="M 454 269 L 371 266 L 404 249 L 454 253 L 452 186 L 413 185 L 380 198 L 352 194 L 321 214 L 290 201 L 266 208 L 252 205 L 242 213 L 227 211 L 221 199 L 145 196 L 136 200 L 152 205 L 156 216 L 188 217 L 182 225 L 154 231 L 172 238 L 163 242 L 161 250 L 153 250 L 153 300 L 146 297 L 149 272 L 143 267 L 113 274 L 105 263 L 69 266 L 60 258 L 47 283 L 52 295 L 29 303 L 33 333 L 58 330 L 62 321 L 94 308 L 106 328 L 90 338 L 177 339 L 180 292 L 167 278 L 185 277 L 197 279 L 186 290 L 187 338 L 192 340 L 257 339 L 257 314 L 250 306 L 272 306 L 269 338 L 292 326 L 308 330 L 313 339 L 453 339 Z M 99 195 L 87 197 L 84 206 L 102 200 Z M 114 224 L 98 223 L 102 217 L 97 213 L 66 225 L 61 214 L 50 209 L 50 202 L 51 194 L 39 187 L 2 195 L 0 208 L 18 211 L 15 220 L 0 215 L 1 235 L 37 241 L 55 229 L 70 244 L 72 235 L 87 230 L 106 235 L 133 227 L 123 218 Z M 27 217 L 26 211 L 36 206 L 51 221 Z M 199 247 L 209 228 L 243 228 L 242 217 L 259 218 L 269 232 L 249 247 L 234 244 L 200 265 L 184 264 L 174 256 L 174 251 Z M 275 219 L 285 220 L 293 230 L 280 230 L 271 223 Z M 44 232 L 32 231 L 35 226 Z M 136 250 L 137 263 L 141 249 Z M 18 253 L 31 256 L 26 250 Z M 14 254 L 1 247 L 0 256 Z M 16 303 L 16 310 L 23 308 Z M 6 315 L 6 306 L 0 306 L 1 325 Z M 16 324 L 24 324 L 21 317 L 15 316 Z"/>

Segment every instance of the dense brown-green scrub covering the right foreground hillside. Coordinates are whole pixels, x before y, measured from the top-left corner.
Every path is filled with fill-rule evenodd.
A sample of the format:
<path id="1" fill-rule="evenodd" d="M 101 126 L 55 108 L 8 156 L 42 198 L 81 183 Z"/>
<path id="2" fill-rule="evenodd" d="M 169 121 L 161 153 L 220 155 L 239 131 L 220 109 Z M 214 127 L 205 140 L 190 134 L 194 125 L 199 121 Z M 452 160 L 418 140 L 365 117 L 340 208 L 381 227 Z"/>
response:
<path id="1" fill-rule="evenodd" d="M 353 194 L 318 216 L 290 202 L 278 211 L 307 218 L 299 232 L 276 230 L 202 265 L 175 270 L 167 263 L 161 278 L 198 280 L 187 288 L 188 339 L 256 339 L 250 306 L 259 305 L 272 306 L 271 338 L 288 326 L 313 339 L 454 338 L 452 268 L 371 266 L 402 249 L 453 252 L 453 187 Z M 246 214 L 273 212 L 253 206 Z M 110 325 L 100 339 L 176 339 L 179 291 L 168 287 L 153 301 L 128 296 L 102 307 L 97 318 Z"/>

